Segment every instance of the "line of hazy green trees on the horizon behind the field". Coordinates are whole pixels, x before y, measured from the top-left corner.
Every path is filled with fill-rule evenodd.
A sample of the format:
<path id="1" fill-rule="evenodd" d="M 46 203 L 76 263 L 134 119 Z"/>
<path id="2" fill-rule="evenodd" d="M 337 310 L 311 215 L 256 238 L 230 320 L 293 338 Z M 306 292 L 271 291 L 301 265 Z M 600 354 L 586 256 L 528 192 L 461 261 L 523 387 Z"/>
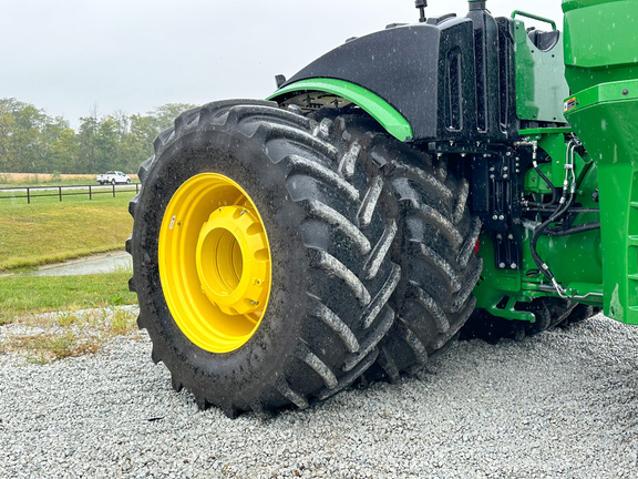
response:
<path id="1" fill-rule="evenodd" d="M 194 105 L 168 103 L 146 114 L 100 116 L 93 108 L 78 131 L 62 116 L 16 99 L 0 99 L 0 172 L 135 173 L 153 140 Z"/>

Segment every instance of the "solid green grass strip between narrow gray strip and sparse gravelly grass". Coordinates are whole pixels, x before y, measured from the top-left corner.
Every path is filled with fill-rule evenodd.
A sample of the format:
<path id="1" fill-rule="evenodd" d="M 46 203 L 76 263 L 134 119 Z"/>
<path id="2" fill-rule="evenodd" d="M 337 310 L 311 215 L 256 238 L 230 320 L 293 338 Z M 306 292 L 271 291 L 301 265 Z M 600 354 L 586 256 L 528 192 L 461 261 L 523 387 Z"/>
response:
<path id="1" fill-rule="evenodd" d="M 82 276 L 0 277 L 0 325 L 47 312 L 136 304 L 130 272 Z"/>

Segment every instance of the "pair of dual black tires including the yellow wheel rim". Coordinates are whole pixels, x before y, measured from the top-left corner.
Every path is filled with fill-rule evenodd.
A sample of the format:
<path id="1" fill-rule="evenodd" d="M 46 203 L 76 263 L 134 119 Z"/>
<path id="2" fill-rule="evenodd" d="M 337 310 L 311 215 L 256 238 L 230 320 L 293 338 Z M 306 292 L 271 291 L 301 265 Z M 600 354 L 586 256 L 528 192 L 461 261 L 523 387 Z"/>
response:
<path id="1" fill-rule="evenodd" d="M 449 170 L 356 111 L 183 113 L 130 204 L 153 359 L 230 417 L 423 364 L 472 313 L 481 272 Z"/>

